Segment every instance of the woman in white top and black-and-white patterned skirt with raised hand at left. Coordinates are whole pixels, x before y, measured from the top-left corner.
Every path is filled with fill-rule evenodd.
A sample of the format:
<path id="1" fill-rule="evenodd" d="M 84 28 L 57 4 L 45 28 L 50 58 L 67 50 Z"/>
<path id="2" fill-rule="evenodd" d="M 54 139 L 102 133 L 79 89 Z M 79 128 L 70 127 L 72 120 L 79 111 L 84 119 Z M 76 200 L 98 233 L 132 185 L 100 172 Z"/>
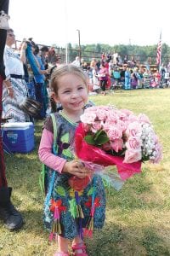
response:
<path id="1" fill-rule="evenodd" d="M 3 118 L 11 118 L 10 122 L 26 122 L 30 117 L 20 109 L 19 104 L 28 94 L 23 65 L 26 62 L 27 44 L 23 42 L 19 56 L 12 49 L 14 43 L 14 31 L 8 29 L 4 49 L 6 79 L 3 81 Z"/>

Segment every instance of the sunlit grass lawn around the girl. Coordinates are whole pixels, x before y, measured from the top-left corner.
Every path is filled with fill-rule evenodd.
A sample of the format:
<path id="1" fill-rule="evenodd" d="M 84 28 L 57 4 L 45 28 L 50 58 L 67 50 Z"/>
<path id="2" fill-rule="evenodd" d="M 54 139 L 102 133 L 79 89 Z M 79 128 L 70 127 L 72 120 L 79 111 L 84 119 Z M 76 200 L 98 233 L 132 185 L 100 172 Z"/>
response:
<path id="1" fill-rule="evenodd" d="M 107 96 L 90 96 L 96 105 L 115 105 L 145 113 L 163 146 L 159 165 L 144 163 L 142 173 L 127 180 L 122 190 L 107 190 L 103 230 L 86 239 L 90 256 L 170 255 L 170 90 L 116 90 Z M 0 255 L 53 255 L 57 245 L 48 242 L 42 226 L 42 195 L 38 177 L 42 165 L 37 148 L 42 122 L 36 123 L 36 148 L 30 154 L 5 154 L 12 201 L 25 218 L 20 232 L 8 232 L 0 223 Z M 109 193 L 110 192 L 110 193 Z"/>

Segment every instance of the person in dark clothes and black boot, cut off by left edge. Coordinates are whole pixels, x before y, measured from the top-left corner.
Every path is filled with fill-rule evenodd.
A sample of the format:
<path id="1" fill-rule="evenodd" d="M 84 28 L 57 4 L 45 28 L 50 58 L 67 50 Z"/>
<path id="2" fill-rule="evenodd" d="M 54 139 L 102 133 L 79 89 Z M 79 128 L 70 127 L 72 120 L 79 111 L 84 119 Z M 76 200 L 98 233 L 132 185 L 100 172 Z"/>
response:
<path id="1" fill-rule="evenodd" d="M 8 0 L 1 0 L 0 11 L 4 11 L 8 14 Z M 1 16 L 0 16 L 1 19 Z M 3 50 L 5 47 L 7 31 L 6 27 L 0 26 L 0 129 L 1 129 L 1 116 L 2 116 L 2 93 L 3 93 L 3 80 L 6 79 L 3 66 Z M 9 91 L 8 91 L 9 93 Z M 23 224 L 23 218 L 18 212 L 12 202 L 10 201 L 12 188 L 8 187 L 6 175 L 5 175 L 5 164 L 3 158 L 3 141 L 0 133 L 0 219 L 8 230 L 19 230 Z"/>

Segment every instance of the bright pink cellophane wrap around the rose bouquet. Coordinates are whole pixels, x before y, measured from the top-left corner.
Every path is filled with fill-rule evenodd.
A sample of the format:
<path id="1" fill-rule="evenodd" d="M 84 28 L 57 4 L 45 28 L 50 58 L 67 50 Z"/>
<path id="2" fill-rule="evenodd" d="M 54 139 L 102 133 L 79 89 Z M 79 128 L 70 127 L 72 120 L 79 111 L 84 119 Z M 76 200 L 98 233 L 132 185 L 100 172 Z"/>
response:
<path id="1" fill-rule="evenodd" d="M 81 123 L 78 125 L 75 135 L 75 151 L 80 160 L 93 162 L 94 164 L 101 166 L 116 165 L 122 180 L 126 180 L 128 177 L 133 176 L 133 174 L 141 172 L 141 161 L 131 164 L 123 163 L 124 158 L 122 156 L 106 154 L 104 150 L 97 148 L 94 145 L 89 145 L 84 141 L 85 136 L 86 134 L 83 129 L 83 124 Z"/>

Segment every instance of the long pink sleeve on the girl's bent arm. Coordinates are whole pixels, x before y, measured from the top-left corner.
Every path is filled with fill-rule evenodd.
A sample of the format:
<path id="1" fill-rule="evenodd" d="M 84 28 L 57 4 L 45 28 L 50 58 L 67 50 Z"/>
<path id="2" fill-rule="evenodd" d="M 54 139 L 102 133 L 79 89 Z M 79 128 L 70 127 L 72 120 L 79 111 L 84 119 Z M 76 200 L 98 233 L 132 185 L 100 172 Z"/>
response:
<path id="1" fill-rule="evenodd" d="M 61 173 L 66 160 L 52 153 L 53 141 L 53 133 L 44 128 L 42 131 L 38 155 L 43 164 Z"/>

